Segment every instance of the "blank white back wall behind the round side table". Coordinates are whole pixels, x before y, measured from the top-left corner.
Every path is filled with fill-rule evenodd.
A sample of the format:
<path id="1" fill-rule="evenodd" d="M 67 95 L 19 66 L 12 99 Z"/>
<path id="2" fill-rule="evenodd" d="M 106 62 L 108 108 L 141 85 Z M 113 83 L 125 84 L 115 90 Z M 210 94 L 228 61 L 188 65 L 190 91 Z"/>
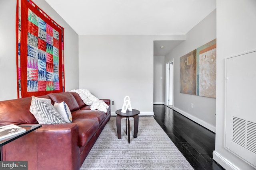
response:
<path id="1" fill-rule="evenodd" d="M 79 35 L 79 88 L 114 101 L 112 115 L 125 96 L 140 115 L 153 115 L 152 36 Z"/>

